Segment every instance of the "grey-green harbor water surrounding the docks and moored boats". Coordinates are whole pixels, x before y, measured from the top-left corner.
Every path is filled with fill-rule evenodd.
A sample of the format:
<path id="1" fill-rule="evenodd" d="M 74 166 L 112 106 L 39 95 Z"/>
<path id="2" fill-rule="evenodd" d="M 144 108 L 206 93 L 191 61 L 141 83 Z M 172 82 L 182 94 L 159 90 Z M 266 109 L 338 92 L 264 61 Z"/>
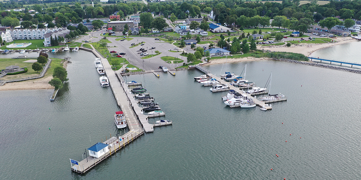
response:
<path id="1" fill-rule="evenodd" d="M 126 76 L 143 83 L 173 125 L 155 128 L 85 175 L 71 172 L 69 158 L 81 160 L 91 144 L 122 132 L 95 57 L 51 57 L 69 55 L 69 82 L 54 102 L 52 90 L 0 91 L 0 179 L 360 179 L 361 75 L 273 60 L 247 62 L 248 80 L 264 87 L 273 72 L 270 93 L 288 98 L 266 112 L 226 107 L 226 92 L 195 82 L 202 75 L 196 69 Z M 239 75 L 245 64 L 206 68 Z"/>

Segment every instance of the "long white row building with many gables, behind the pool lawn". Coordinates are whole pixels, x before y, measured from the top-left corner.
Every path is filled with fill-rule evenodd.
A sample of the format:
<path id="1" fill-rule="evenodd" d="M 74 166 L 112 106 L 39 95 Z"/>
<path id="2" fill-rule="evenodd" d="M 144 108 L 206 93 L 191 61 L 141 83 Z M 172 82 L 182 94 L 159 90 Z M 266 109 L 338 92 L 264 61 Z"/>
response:
<path id="1" fill-rule="evenodd" d="M 44 35 L 49 32 L 62 31 L 66 28 L 41 28 L 41 29 L 10 29 L 13 40 L 18 39 L 44 39 Z"/>

